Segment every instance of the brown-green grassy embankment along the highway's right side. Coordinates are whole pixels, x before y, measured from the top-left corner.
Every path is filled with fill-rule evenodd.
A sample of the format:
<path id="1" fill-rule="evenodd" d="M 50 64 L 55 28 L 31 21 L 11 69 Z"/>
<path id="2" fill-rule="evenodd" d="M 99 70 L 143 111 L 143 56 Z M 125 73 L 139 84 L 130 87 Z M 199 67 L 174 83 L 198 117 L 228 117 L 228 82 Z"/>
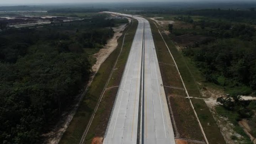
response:
<path id="1" fill-rule="evenodd" d="M 157 28 L 156 28 L 155 24 L 152 23 L 152 21 L 151 21 L 151 29 L 153 30 L 152 32 L 153 32 L 153 38 L 154 38 L 155 44 L 157 45 L 157 44 L 161 43 L 160 41 L 162 41 L 162 39 L 160 38 L 160 34 L 157 34 L 158 33 Z M 200 90 L 199 90 L 200 87 L 196 83 L 195 78 L 194 78 L 192 72 L 190 71 L 188 64 L 186 63 L 183 55 L 178 51 L 178 49 L 175 47 L 173 42 L 170 40 L 170 38 L 166 34 L 162 33 L 162 35 L 163 35 L 164 40 L 166 41 L 168 47 L 170 48 L 170 51 L 174 57 L 174 60 L 176 61 L 177 65 L 178 65 L 178 69 L 179 69 L 181 76 L 183 78 L 183 81 L 186 85 L 189 96 L 190 97 L 191 96 L 192 97 L 202 97 L 202 94 L 200 93 Z M 158 48 L 164 48 L 164 47 L 165 46 L 163 46 L 163 44 L 161 44 L 161 45 L 159 45 Z M 158 54 L 158 57 L 161 57 L 161 58 L 164 57 L 163 55 L 160 55 L 161 53 L 157 53 L 157 54 Z M 166 59 L 171 61 L 170 56 L 169 56 L 169 58 L 166 57 Z M 170 77 L 171 77 L 171 75 L 174 75 L 174 74 L 168 74 L 168 73 L 173 73 L 173 71 L 175 71 L 175 70 L 176 69 L 174 69 L 174 68 L 173 69 L 171 69 L 171 68 L 164 69 L 163 68 L 163 70 L 161 70 L 161 73 L 163 73 L 162 74 L 163 79 L 165 79 L 166 75 L 168 75 Z M 164 74 L 164 73 L 166 73 L 166 74 Z M 177 79 L 177 76 L 172 76 L 171 78 L 168 78 L 168 79 L 175 79 L 175 78 Z M 176 81 L 175 84 L 176 85 L 178 84 L 178 80 L 172 80 L 172 81 L 173 82 Z M 177 92 L 178 95 L 176 95 L 174 92 L 175 91 L 173 91 L 173 90 L 166 91 L 167 96 L 170 97 L 170 101 L 172 100 L 171 107 L 173 110 L 173 114 L 178 113 L 174 116 L 174 120 L 176 122 L 178 132 L 181 132 L 182 134 L 187 133 L 186 135 L 179 135 L 179 136 L 181 138 L 186 137 L 186 138 L 190 138 L 190 139 L 202 139 L 202 133 L 200 133 L 200 129 L 199 129 L 196 119 L 193 120 L 193 118 L 191 118 L 191 116 L 192 116 L 191 113 L 193 113 L 193 109 L 190 107 L 190 108 L 188 108 L 188 110 L 186 110 L 187 114 L 180 114 L 183 111 L 182 109 L 184 109 L 182 106 L 188 107 L 188 105 L 186 104 L 186 103 L 188 103 L 188 101 L 184 101 L 182 98 L 180 98 L 180 100 L 178 101 L 177 98 L 182 96 L 181 92 Z M 195 111 L 198 114 L 199 120 L 202 124 L 204 132 L 208 139 L 208 142 L 210 144 L 225 143 L 225 140 L 220 133 L 220 129 L 218 128 L 206 103 L 200 99 L 193 99 L 192 103 L 195 107 Z M 188 123 L 190 123 L 190 125 Z M 193 130 L 190 132 L 189 129 L 193 129 Z M 196 130 L 198 130 L 198 132 L 196 132 Z M 201 135 L 201 137 L 200 137 L 200 135 Z M 177 134 L 176 134 L 176 136 L 177 136 Z"/>

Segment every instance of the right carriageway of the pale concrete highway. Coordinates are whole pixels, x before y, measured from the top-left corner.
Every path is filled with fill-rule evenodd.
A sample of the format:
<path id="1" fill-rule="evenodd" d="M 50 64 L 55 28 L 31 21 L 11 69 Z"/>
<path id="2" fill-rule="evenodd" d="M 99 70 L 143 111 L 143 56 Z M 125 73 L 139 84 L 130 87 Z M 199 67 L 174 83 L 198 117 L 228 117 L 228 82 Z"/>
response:
<path id="1" fill-rule="evenodd" d="M 145 24 L 144 117 L 145 144 L 175 144 L 162 76 L 149 22 Z"/>

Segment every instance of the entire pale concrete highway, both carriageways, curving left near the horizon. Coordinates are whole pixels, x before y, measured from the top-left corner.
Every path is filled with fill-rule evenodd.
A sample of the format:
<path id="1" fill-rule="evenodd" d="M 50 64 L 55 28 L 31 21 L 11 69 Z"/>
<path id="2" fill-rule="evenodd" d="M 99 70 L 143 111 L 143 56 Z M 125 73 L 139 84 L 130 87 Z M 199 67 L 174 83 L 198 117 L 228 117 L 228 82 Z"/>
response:
<path id="1" fill-rule="evenodd" d="M 109 13 L 134 17 L 139 23 L 103 144 L 175 144 L 149 22 Z"/>

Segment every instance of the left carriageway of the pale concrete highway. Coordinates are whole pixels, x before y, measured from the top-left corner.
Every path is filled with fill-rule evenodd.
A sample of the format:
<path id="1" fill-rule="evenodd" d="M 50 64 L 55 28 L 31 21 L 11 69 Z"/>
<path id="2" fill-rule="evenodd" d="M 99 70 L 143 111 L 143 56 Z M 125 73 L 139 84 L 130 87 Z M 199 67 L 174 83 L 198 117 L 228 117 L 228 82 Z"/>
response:
<path id="1" fill-rule="evenodd" d="M 136 144 L 137 142 L 143 41 L 143 21 L 140 19 L 138 21 L 104 144 Z"/>

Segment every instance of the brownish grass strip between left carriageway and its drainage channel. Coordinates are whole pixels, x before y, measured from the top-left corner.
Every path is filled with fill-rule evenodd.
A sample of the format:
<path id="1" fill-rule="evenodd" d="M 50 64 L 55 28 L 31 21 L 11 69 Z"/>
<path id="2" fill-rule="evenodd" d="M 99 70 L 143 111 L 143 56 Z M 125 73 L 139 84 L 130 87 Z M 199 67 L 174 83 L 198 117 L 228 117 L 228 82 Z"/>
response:
<path id="1" fill-rule="evenodd" d="M 120 57 L 117 60 L 114 71 L 111 75 L 110 81 L 107 85 L 107 89 L 103 95 L 103 99 L 100 102 L 99 108 L 95 114 L 92 125 L 89 128 L 88 134 L 85 137 L 84 144 L 90 144 L 94 137 L 104 137 L 106 127 L 110 118 L 111 110 L 113 108 L 113 104 L 115 101 L 115 97 L 118 91 L 118 86 L 120 84 L 122 74 L 124 72 L 126 60 L 129 56 L 130 48 L 132 45 L 132 41 L 134 35 L 137 30 L 138 21 L 133 20 L 133 24 L 130 28 L 127 28 L 124 33 L 126 33 L 124 44 L 122 48 L 122 52 L 120 53 Z M 129 29 L 129 30 L 128 30 Z M 128 31 L 127 31 L 128 30 Z M 118 48 L 121 49 L 123 36 L 119 38 Z"/>

